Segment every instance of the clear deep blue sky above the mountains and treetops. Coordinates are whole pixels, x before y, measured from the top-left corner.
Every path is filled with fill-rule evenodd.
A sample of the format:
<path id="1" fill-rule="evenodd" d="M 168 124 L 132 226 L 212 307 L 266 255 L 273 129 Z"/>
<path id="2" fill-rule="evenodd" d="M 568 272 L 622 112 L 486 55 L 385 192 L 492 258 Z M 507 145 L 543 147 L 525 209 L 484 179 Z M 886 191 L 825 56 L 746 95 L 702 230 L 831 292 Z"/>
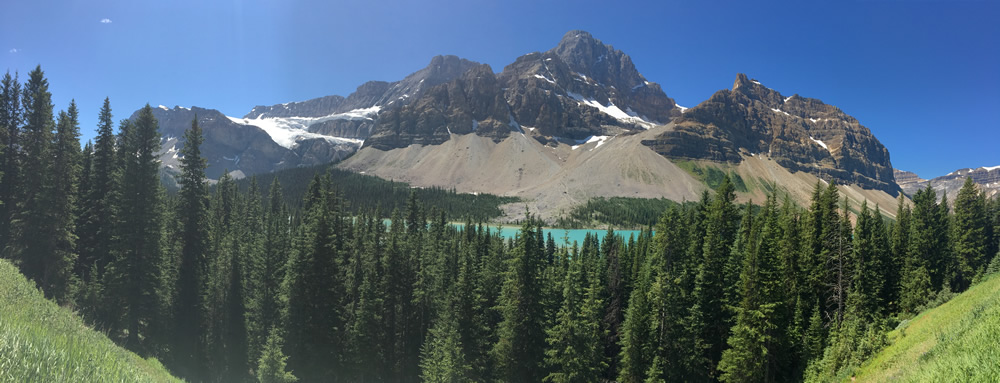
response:
<path id="1" fill-rule="evenodd" d="M 753 3 L 753 4 L 750 4 Z M 1000 2 L 7 0 L 0 71 L 41 64 L 84 139 L 104 97 L 242 116 L 348 95 L 454 54 L 500 72 L 571 29 L 632 56 L 680 105 L 739 72 L 839 106 L 897 168 L 928 178 L 1000 165 Z"/>

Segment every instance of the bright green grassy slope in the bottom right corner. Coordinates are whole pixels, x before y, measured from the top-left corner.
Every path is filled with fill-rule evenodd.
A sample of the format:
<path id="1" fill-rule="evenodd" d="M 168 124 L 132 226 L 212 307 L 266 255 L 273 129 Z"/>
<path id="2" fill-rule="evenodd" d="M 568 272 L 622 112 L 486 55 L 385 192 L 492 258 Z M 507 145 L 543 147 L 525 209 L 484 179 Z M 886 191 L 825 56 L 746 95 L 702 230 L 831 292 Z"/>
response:
<path id="1" fill-rule="evenodd" d="M 858 381 L 1000 381 L 1000 275 L 889 333 Z"/>

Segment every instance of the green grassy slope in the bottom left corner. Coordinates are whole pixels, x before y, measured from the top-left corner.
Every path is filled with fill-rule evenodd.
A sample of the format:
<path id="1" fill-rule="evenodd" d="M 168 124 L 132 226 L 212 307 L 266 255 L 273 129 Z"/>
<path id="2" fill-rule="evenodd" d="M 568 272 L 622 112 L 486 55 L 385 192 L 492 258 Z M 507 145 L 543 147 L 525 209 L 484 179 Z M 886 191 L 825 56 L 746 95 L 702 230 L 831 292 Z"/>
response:
<path id="1" fill-rule="evenodd" d="M 175 381 L 159 361 L 118 347 L 0 260 L 0 382 Z"/>

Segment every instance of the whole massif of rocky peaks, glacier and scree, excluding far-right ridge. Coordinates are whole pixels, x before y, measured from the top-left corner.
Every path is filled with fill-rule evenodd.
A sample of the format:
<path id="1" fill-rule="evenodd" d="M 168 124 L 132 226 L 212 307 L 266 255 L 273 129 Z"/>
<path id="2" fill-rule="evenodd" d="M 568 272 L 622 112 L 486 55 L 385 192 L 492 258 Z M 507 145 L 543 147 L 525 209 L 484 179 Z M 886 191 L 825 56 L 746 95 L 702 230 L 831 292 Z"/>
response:
<path id="1" fill-rule="evenodd" d="M 713 174 L 759 201 L 780 189 L 807 203 L 835 181 L 852 204 L 892 214 L 900 192 L 889 151 L 835 106 L 784 96 L 738 74 L 731 89 L 690 109 L 632 59 L 584 31 L 499 73 L 455 56 L 347 97 L 255 106 L 242 117 L 197 107 L 154 109 L 165 171 L 197 116 L 208 176 L 235 177 L 341 161 L 357 172 L 522 197 L 543 217 L 599 196 L 697 200 Z"/>

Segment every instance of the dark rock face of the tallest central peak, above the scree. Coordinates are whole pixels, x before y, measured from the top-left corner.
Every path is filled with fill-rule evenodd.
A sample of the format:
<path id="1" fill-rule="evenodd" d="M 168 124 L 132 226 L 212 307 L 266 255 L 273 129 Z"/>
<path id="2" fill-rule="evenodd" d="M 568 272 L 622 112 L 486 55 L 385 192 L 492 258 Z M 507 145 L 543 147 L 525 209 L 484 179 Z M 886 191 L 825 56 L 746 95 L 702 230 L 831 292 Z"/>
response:
<path id="1" fill-rule="evenodd" d="M 524 129 L 542 141 L 575 142 L 641 131 L 679 114 L 627 55 L 587 32 L 571 31 L 555 48 L 521 56 L 499 75 L 488 66 L 471 67 L 414 101 L 387 108 L 365 146 L 434 145 L 450 133 L 499 142 Z"/>

